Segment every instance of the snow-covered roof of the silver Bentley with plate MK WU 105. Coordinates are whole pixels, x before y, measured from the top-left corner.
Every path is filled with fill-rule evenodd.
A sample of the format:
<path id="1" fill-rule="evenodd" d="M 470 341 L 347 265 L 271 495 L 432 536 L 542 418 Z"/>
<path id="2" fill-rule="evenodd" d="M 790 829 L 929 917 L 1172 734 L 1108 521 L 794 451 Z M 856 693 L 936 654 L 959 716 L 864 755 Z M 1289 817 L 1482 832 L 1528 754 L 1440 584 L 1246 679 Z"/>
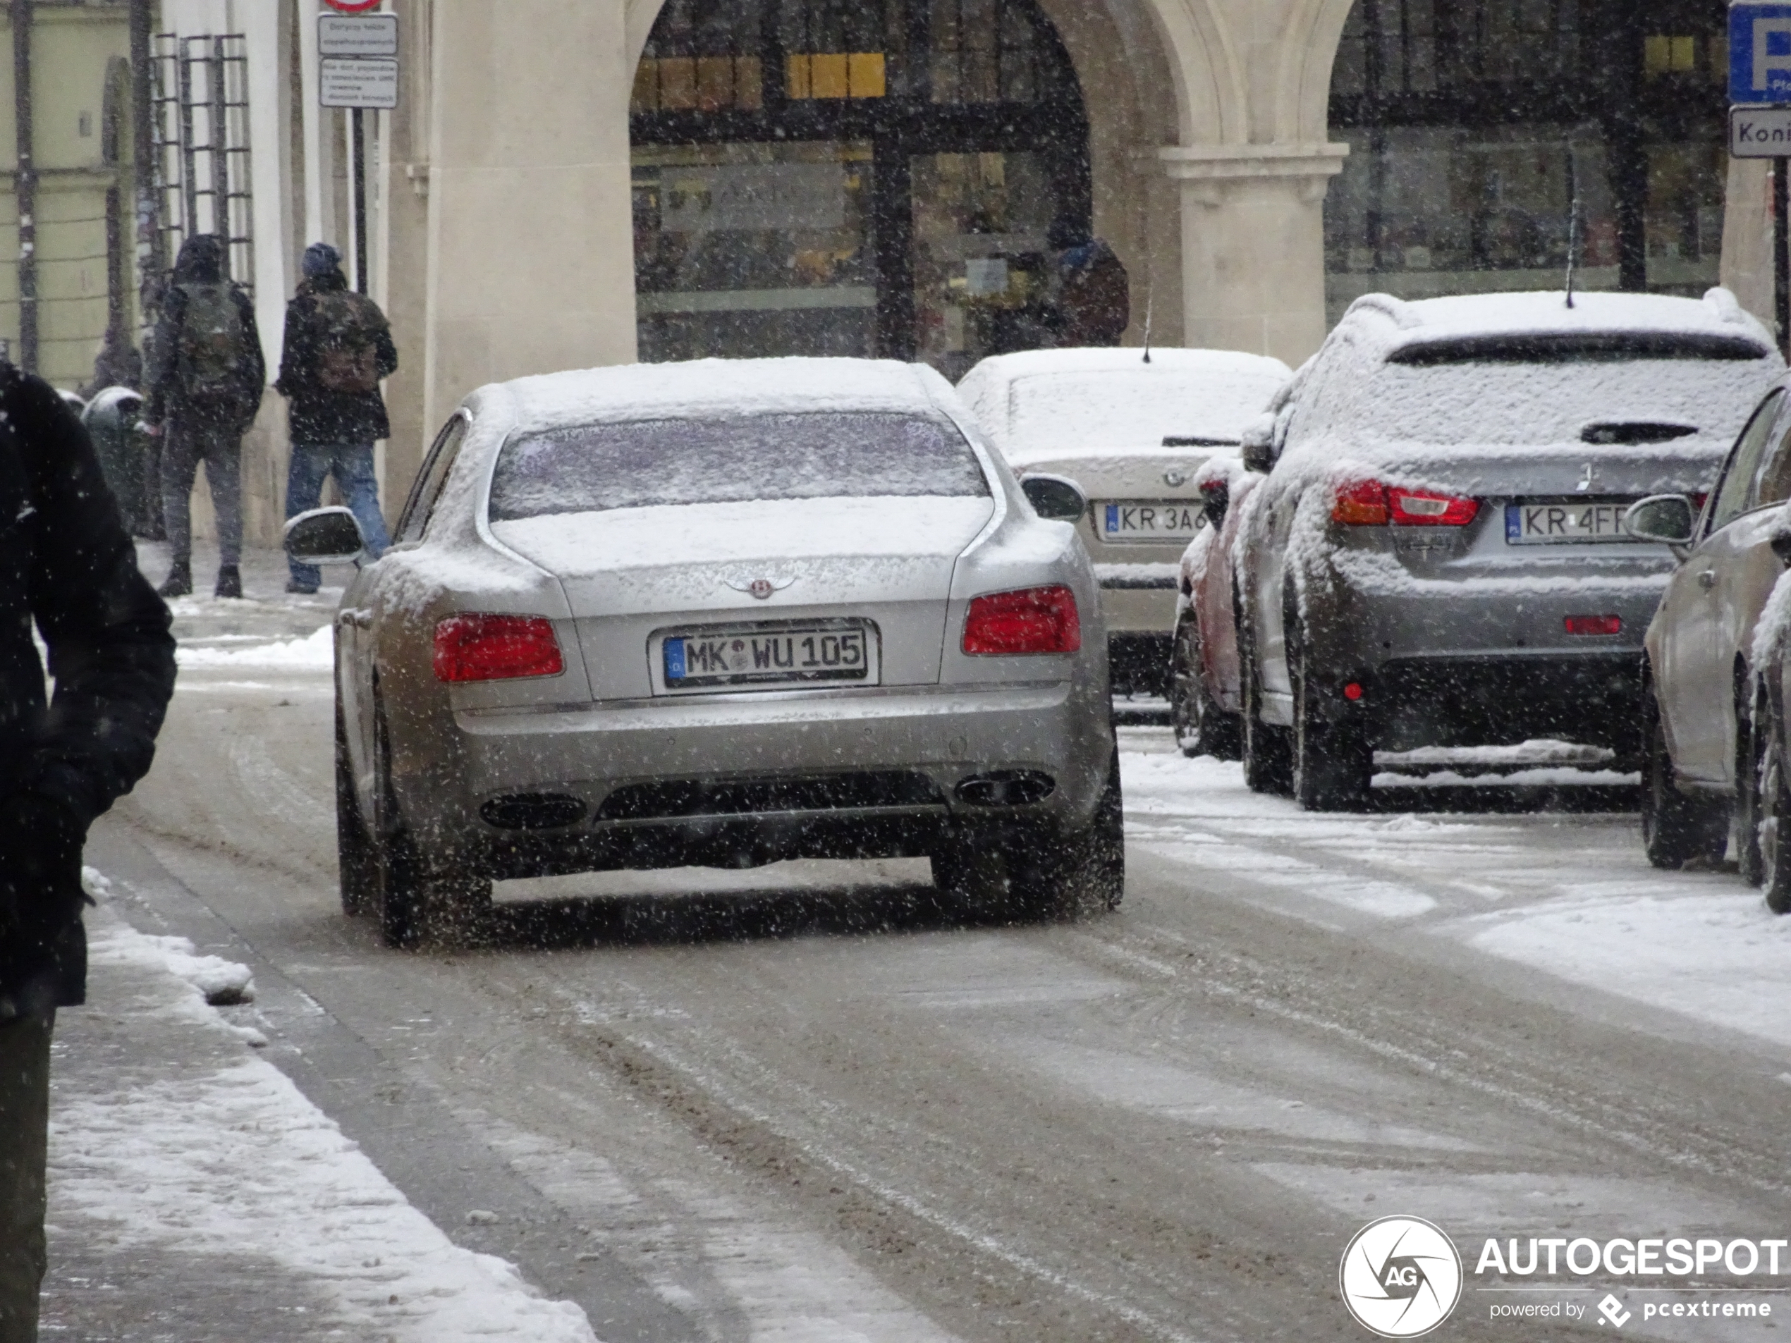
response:
<path id="1" fill-rule="evenodd" d="M 618 419 L 731 417 L 815 410 L 962 412 L 951 383 L 919 364 L 853 358 L 625 364 L 482 387 L 516 432 Z"/>

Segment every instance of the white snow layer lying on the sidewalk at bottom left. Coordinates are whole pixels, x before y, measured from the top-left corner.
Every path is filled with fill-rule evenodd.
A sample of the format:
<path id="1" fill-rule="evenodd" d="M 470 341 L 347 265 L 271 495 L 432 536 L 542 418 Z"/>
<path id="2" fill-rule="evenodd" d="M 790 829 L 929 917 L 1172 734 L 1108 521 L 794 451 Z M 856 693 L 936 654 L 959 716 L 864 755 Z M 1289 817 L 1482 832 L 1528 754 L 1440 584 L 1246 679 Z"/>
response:
<path id="1" fill-rule="evenodd" d="M 242 1048 L 179 971 L 215 958 L 172 945 L 183 938 L 145 937 L 104 908 L 90 922 L 95 969 L 124 971 L 120 983 L 134 990 L 136 1001 L 122 1005 L 127 1031 L 140 1021 L 143 1035 L 167 1040 L 172 1026 L 172 1039 L 193 1048 L 188 1058 L 134 1060 L 165 1064 L 167 1076 L 118 1076 L 102 1094 L 61 1091 L 52 1216 L 75 1209 L 102 1221 L 107 1250 L 125 1255 L 174 1248 L 276 1262 L 331 1302 L 319 1338 L 596 1343 L 577 1305 L 546 1300 L 505 1261 L 453 1245 L 272 1064 L 226 1051 L 236 1062 L 190 1065 L 217 1046 L 193 1031 Z"/>

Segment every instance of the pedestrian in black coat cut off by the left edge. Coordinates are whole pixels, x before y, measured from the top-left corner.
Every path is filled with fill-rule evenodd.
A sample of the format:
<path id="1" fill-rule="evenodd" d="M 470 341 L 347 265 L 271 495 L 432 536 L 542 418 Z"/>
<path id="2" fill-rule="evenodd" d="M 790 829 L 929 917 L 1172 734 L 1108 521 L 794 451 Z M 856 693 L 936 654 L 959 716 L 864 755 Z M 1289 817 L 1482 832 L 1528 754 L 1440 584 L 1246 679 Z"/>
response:
<path id="1" fill-rule="evenodd" d="M 32 627 L 48 648 L 56 695 Z M 168 609 L 86 430 L 0 364 L 0 1339 L 34 1339 L 45 1268 L 50 1031 L 86 997 L 81 849 L 154 756 Z"/>

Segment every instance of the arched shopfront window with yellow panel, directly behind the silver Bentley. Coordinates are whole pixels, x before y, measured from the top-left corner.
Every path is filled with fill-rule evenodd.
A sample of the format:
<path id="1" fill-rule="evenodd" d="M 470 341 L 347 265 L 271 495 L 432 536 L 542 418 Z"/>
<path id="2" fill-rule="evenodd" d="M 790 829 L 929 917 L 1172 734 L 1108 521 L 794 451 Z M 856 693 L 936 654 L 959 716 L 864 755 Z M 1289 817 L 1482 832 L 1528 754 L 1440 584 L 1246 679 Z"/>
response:
<path id="1" fill-rule="evenodd" d="M 1041 344 L 1087 115 L 1035 0 L 666 0 L 636 70 L 643 358 Z"/>

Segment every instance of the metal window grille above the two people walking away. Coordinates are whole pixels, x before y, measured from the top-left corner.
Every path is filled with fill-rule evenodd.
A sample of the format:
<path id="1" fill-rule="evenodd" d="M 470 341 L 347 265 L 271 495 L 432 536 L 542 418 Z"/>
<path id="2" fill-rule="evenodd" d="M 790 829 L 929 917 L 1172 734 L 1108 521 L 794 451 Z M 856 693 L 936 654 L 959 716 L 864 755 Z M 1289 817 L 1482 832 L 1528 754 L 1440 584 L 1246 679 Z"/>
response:
<path id="1" fill-rule="evenodd" d="M 226 240 L 226 270 L 254 288 L 249 47 L 240 32 L 156 36 L 152 138 L 161 235 L 172 260 L 201 233 Z"/>

